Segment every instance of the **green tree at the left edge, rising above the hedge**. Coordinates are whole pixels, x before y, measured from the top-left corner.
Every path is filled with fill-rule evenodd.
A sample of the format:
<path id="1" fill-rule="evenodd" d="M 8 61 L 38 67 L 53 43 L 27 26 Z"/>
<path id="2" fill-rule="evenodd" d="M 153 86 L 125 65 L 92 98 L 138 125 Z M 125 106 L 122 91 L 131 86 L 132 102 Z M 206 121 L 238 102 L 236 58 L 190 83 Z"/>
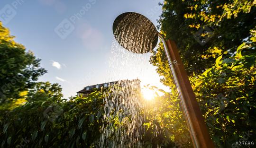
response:
<path id="1" fill-rule="evenodd" d="M 14 36 L 0 22 L 0 103 L 19 98 L 19 93 L 33 88 L 46 70 L 32 52 L 16 43 Z"/>

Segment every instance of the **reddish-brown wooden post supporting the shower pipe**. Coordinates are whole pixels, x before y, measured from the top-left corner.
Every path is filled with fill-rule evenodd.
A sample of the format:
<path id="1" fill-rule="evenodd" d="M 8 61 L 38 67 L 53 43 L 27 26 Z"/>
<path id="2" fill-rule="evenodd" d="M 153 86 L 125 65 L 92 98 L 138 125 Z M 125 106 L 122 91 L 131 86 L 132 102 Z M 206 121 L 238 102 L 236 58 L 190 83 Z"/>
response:
<path id="1" fill-rule="evenodd" d="M 188 76 L 186 74 L 186 71 L 183 67 L 183 63 L 181 60 L 181 57 L 178 53 L 176 44 L 174 41 L 167 40 L 166 41 L 167 48 L 170 54 L 170 57 L 174 64 L 174 69 L 176 76 L 178 78 L 178 82 L 180 84 L 181 93 L 183 94 L 183 102 L 184 106 L 187 108 L 187 116 L 185 115 L 188 127 L 192 126 L 193 131 L 190 129 L 190 135 L 193 141 L 194 148 L 214 148 L 214 144 L 212 140 L 210 139 L 209 131 L 206 127 L 206 124 L 204 122 L 204 118 L 202 116 L 199 104 L 195 98 L 194 92 L 192 90 L 190 81 L 188 79 Z M 189 125 L 188 118 L 190 118 L 190 121 L 192 125 Z M 193 132 L 193 133 L 192 133 Z M 195 136 L 193 139 L 192 135 Z M 198 147 L 195 145 L 195 141 L 197 140 Z"/>

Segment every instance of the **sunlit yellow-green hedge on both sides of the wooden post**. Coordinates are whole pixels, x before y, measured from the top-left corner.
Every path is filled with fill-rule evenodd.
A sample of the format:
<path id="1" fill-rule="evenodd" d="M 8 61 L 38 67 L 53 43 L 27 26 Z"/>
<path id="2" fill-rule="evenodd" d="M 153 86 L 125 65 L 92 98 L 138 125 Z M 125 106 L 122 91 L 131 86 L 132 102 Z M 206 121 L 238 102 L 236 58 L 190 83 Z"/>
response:
<path id="1" fill-rule="evenodd" d="M 256 52 L 243 52 L 255 48 L 243 43 L 234 56 L 220 55 L 211 68 L 190 77 L 216 148 L 235 148 L 236 141 L 256 139 Z M 150 146 L 192 147 L 174 85 L 171 93 L 156 97 L 146 109 L 146 133 L 159 132 L 158 137 L 146 135 Z"/>

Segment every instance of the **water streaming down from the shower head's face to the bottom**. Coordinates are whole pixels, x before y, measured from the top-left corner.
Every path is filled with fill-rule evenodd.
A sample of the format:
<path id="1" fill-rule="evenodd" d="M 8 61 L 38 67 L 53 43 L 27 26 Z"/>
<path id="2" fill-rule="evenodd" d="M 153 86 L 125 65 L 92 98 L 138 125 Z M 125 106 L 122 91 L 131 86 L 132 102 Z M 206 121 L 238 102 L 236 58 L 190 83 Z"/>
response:
<path id="1" fill-rule="evenodd" d="M 131 24 L 137 27 L 143 25 L 143 29 L 152 29 L 151 23 L 141 16 L 130 17 L 127 15 L 120 21 L 114 32 L 115 39 L 111 46 L 111 57 L 109 62 L 109 73 L 113 78 L 110 81 L 130 78 L 130 75 L 142 75 L 146 72 L 144 63 L 149 60 L 148 53 L 152 50 L 151 31 L 140 32 L 140 29 L 130 27 Z M 149 24 L 149 25 L 145 25 Z M 121 27 L 120 27 L 121 26 Z M 146 27 L 145 27 L 146 26 Z M 153 32 L 153 30 L 152 30 Z M 145 37 L 146 35 L 146 37 Z M 104 116 L 101 128 L 101 148 L 143 148 L 142 134 L 144 132 L 143 116 L 144 109 L 140 93 L 140 80 L 119 80 L 109 83 L 109 92 L 104 99 Z"/>

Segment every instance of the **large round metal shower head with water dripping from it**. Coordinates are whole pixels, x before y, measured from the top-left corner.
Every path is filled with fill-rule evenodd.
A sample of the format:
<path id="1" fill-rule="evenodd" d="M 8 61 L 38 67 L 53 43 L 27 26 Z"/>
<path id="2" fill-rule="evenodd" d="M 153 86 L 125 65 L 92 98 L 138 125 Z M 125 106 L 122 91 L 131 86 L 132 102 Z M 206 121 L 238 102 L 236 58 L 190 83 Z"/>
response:
<path id="1" fill-rule="evenodd" d="M 145 16 L 135 12 L 119 15 L 113 23 L 113 33 L 122 47 L 135 53 L 152 51 L 158 41 L 154 24 Z"/>

